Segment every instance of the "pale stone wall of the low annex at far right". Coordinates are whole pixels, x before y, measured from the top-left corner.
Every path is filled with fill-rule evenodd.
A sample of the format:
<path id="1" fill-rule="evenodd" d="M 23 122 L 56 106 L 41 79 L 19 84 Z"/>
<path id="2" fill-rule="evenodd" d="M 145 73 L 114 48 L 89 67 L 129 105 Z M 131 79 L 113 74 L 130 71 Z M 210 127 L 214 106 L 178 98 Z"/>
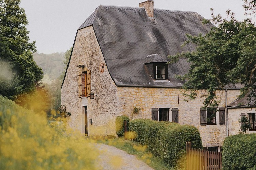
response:
<path id="1" fill-rule="evenodd" d="M 239 133 L 241 124 L 238 120 L 241 118 L 241 113 L 245 113 L 248 118 L 248 113 L 255 113 L 256 108 L 232 108 L 228 109 L 228 128 L 229 128 L 229 135 L 236 135 Z M 255 133 L 256 131 L 246 131 L 247 134 Z"/>

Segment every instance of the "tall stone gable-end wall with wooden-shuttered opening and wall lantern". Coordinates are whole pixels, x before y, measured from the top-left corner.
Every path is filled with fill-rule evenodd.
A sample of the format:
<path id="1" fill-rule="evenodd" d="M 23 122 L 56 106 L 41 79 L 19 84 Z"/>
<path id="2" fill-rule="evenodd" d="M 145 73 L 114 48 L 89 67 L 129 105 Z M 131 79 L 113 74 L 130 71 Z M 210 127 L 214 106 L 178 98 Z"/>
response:
<path id="1" fill-rule="evenodd" d="M 100 71 L 100 64 L 104 64 L 104 72 Z M 98 96 L 94 99 L 78 97 L 78 74 L 84 65 L 91 71 L 91 89 L 96 89 Z M 96 95 L 96 91 L 93 91 Z M 88 135 L 115 134 L 113 123 L 119 113 L 117 111 L 117 87 L 112 81 L 97 42 L 92 26 L 78 30 L 73 48 L 69 68 L 61 89 L 61 102 L 71 112 L 68 124 L 85 133 L 84 107 L 88 107 Z M 89 119 L 93 124 L 89 124 Z"/>

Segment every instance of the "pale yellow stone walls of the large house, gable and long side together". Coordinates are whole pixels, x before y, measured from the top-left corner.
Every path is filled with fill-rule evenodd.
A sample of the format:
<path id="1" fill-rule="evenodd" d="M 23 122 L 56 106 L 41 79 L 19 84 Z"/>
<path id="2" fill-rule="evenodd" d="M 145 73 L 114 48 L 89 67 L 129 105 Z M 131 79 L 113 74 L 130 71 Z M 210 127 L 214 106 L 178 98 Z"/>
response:
<path id="1" fill-rule="evenodd" d="M 105 65 L 103 73 L 100 71 L 101 63 Z M 84 68 L 76 67 L 77 65 L 84 65 Z M 98 92 L 95 99 L 78 97 L 78 74 L 83 69 L 91 71 L 91 89 Z M 116 117 L 127 115 L 132 119 L 133 108 L 137 106 L 142 110 L 138 115 L 134 115 L 133 119 L 151 119 L 152 108 L 170 108 L 171 121 L 171 108 L 179 108 L 179 123 L 194 125 L 199 129 L 205 147 L 222 146 L 227 135 L 226 125 L 219 125 L 218 113 L 216 125 L 200 125 L 200 107 L 203 107 L 204 99 L 199 96 L 204 91 L 200 91 L 195 100 L 186 102 L 182 95 L 184 91 L 180 88 L 117 87 L 109 74 L 92 26 L 77 31 L 61 91 L 62 105 L 64 104 L 67 111 L 71 112 L 68 118 L 69 126 L 83 134 L 85 106 L 88 108 L 88 135 L 115 135 Z M 219 107 L 225 107 L 225 91 L 217 91 L 217 95 Z M 227 104 L 234 101 L 237 95 L 239 90 L 228 90 Z M 92 125 L 89 124 L 89 119 L 92 119 Z M 232 127 L 230 126 L 230 129 Z"/>

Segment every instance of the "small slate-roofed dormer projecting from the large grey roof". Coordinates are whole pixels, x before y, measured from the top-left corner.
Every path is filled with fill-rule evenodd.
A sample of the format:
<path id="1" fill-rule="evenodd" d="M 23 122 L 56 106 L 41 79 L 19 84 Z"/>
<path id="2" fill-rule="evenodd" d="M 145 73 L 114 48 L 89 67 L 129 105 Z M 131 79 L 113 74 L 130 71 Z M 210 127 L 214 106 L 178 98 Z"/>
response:
<path id="1" fill-rule="evenodd" d="M 148 55 L 144 64 L 154 80 L 168 79 L 168 61 L 158 54 Z"/>

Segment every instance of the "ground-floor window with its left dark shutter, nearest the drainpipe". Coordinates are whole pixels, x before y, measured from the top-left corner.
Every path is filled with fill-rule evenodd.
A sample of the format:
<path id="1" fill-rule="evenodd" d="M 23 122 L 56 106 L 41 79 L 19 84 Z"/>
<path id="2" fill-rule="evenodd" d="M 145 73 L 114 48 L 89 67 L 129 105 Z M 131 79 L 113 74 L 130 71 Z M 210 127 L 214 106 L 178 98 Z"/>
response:
<path id="1" fill-rule="evenodd" d="M 200 123 L 202 126 L 216 124 L 217 108 L 200 108 Z"/>

